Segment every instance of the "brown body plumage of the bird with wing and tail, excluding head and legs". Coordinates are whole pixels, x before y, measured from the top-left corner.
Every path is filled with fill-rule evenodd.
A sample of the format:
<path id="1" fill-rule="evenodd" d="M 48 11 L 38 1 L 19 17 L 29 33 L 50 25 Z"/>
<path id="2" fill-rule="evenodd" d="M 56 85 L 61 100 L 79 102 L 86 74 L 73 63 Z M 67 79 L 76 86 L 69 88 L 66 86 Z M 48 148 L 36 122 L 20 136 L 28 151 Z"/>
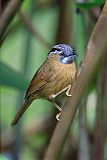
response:
<path id="1" fill-rule="evenodd" d="M 58 55 L 50 55 L 31 80 L 26 92 L 25 102 L 11 125 L 16 125 L 34 99 L 49 99 L 51 95 L 58 93 L 68 85 L 72 85 L 75 74 L 76 66 L 74 62 L 72 64 L 62 64 L 58 61 Z"/>

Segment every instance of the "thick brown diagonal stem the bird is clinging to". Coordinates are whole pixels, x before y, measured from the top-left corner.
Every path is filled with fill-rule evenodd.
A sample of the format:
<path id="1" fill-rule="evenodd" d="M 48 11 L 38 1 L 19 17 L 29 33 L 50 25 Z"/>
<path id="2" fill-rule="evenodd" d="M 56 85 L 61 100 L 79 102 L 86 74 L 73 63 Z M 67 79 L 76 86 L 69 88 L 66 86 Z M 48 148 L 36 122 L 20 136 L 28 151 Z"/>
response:
<path id="1" fill-rule="evenodd" d="M 104 55 L 105 50 L 107 52 L 107 0 L 89 40 L 86 55 L 77 73 L 77 79 L 72 86 L 72 97 L 67 98 L 65 102 L 64 109 L 61 114 L 61 122 L 58 122 L 56 125 L 44 160 L 59 159 L 64 142 L 77 111 L 79 100 L 89 83 L 94 69 L 100 62 L 101 57 Z"/>

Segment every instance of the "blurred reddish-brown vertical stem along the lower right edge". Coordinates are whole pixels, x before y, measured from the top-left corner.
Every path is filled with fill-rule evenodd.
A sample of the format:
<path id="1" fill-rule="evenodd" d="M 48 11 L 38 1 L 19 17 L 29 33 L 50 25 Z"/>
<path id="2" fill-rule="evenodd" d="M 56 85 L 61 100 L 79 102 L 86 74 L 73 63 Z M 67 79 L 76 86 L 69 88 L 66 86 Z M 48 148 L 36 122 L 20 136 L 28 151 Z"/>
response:
<path id="1" fill-rule="evenodd" d="M 107 128 L 105 119 L 107 120 L 107 56 L 103 57 L 102 65 L 98 78 L 97 88 L 97 107 L 96 107 L 96 124 L 95 124 L 95 159 L 104 159 L 104 144 L 107 139 Z M 106 102 L 105 102 L 106 100 Z M 106 105 L 106 107 L 105 107 Z"/>

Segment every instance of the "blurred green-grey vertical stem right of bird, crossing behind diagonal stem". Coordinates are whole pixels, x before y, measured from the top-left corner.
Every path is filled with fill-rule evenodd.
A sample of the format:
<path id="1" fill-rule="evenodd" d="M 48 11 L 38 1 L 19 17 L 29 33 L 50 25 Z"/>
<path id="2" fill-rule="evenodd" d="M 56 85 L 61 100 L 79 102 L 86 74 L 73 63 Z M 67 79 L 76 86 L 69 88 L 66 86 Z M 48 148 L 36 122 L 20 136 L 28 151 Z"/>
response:
<path id="1" fill-rule="evenodd" d="M 82 1 L 84 2 L 84 0 Z M 74 30 L 75 30 L 75 43 L 76 50 L 79 54 L 77 58 L 77 65 L 80 64 L 81 59 L 83 58 L 83 53 L 86 46 L 86 18 L 85 11 L 82 11 L 79 8 L 75 9 L 76 14 L 74 14 Z M 79 27 L 78 27 L 79 26 Z M 79 103 L 79 160 L 88 160 L 89 158 L 89 143 L 88 143 L 88 132 L 87 132 L 87 114 L 86 114 L 86 102 L 87 102 L 87 91 L 83 95 Z"/>

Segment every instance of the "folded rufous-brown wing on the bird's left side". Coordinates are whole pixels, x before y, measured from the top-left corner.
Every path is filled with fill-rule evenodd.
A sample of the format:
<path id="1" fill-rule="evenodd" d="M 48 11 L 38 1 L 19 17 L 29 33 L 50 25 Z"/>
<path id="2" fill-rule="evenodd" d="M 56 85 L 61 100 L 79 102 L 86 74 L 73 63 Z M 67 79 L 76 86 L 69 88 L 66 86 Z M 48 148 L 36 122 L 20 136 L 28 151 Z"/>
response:
<path id="1" fill-rule="evenodd" d="M 34 75 L 30 82 L 25 98 L 28 98 L 32 93 L 44 88 L 51 77 L 50 67 L 48 63 L 44 63 Z"/>

